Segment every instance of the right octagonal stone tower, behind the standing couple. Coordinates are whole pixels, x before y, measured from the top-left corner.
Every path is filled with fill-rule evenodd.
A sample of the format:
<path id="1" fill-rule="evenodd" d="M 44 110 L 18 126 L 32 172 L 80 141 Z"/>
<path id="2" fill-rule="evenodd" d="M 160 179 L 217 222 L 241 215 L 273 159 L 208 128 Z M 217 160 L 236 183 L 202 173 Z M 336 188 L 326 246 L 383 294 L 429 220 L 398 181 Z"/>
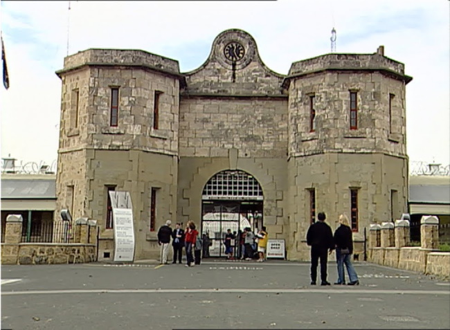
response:
<path id="1" fill-rule="evenodd" d="M 291 65 L 283 83 L 291 259 L 309 257 L 305 232 L 318 212 L 332 228 L 347 214 L 361 243 L 369 223 L 399 219 L 406 210 L 405 85 L 411 79 L 383 46 L 374 54 L 327 54 Z"/>

